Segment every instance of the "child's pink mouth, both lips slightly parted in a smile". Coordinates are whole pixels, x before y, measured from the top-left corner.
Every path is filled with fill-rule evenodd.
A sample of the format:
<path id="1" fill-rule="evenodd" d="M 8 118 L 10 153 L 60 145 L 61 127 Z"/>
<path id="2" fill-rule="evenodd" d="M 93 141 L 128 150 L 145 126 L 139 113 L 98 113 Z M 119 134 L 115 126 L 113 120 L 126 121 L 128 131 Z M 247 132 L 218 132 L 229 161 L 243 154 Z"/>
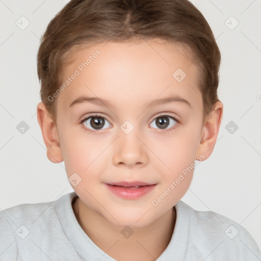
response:
<path id="1" fill-rule="evenodd" d="M 135 184 L 134 184 L 135 183 Z M 123 185 L 124 184 L 124 185 Z M 118 182 L 105 184 L 114 195 L 124 199 L 138 199 L 154 189 L 156 184 L 144 182 Z M 127 186 L 126 186 L 127 185 Z"/>

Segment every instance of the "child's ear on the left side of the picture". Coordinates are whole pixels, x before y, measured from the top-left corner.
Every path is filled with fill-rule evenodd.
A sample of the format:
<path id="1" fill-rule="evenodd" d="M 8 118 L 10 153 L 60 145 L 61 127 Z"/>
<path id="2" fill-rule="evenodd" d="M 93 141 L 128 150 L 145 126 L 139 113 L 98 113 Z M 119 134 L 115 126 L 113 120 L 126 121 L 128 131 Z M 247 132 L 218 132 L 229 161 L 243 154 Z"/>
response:
<path id="1" fill-rule="evenodd" d="M 53 163 L 62 162 L 63 155 L 59 143 L 57 125 L 49 116 L 43 102 L 38 103 L 37 119 L 41 127 L 43 140 L 47 149 L 47 158 Z"/>

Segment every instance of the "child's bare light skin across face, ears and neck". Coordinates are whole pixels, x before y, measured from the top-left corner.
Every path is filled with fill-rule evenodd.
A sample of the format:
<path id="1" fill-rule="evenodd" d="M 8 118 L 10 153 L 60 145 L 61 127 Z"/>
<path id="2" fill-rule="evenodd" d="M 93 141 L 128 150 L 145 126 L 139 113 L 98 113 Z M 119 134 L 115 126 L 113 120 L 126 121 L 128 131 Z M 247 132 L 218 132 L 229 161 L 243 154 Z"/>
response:
<path id="1" fill-rule="evenodd" d="M 72 186 L 79 196 L 73 211 L 100 249 L 117 260 L 153 260 L 170 242 L 176 218 L 172 207 L 189 189 L 193 171 L 158 205 L 152 200 L 196 159 L 211 155 L 223 105 L 218 101 L 204 120 L 197 66 L 184 48 L 159 40 L 83 48 L 65 68 L 64 79 L 96 49 L 101 54 L 57 97 L 56 123 L 44 104 L 38 104 L 47 157 L 54 163 L 64 161 L 68 178 L 75 172 L 82 178 Z M 172 76 L 177 68 L 187 74 L 181 82 Z M 87 102 L 69 107 L 82 95 L 106 99 L 113 107 Z M 182 97 L 190 106 L 180 101 L 150 105 L 169 96 Z M 90 120 L 80 123 L 91 113 L 106 117 L 105 126 L 95 134 L 88 131 L 95 130 Z M 170 116 L 164 128 L 156 124 L 160 115 Z M 129 134 L 120 128 L 126 120 L 134 126 Z M 123 180 L 156 186 L 134 200 L 119 198 L 105 186 Z M 134 231 L 127 239 L 121 234 L 126 225 Z"/>

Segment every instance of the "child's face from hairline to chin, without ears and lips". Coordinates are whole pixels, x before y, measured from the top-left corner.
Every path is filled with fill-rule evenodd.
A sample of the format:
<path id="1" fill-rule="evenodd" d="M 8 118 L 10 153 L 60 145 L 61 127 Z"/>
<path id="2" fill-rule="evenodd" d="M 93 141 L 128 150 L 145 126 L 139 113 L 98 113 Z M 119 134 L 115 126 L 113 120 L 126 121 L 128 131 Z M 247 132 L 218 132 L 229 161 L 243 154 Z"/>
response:
<path id="1" fill-rule="evenodd" d="M 73 182 L 81 180 L 72 188 L 88 208 L 118 226 L 142 227 L 170 211 L 190 186 L 195 160 L 208 157 L 200 143 L 203 103 L 194 63 L 177 45 L 148 43 L 108 42 L 77 51 L 64 82 L 75 69 L 80 75 L 57 98 L 57 138 L 67 176 L 77 173 Z M 100 54 L 93 56 L 97 49 Z M 178 68 L 185 78 L 180 69 L 172 75 Z M 111 106 L 70 106 L 79 97 L 101 98 Z M 152 103 L 169 97 L 179 100 Z M 80 123 L 93 114 L 104 118 Z M 121 181 L 156 185 L 129 199 L 106 185 Z"/>

